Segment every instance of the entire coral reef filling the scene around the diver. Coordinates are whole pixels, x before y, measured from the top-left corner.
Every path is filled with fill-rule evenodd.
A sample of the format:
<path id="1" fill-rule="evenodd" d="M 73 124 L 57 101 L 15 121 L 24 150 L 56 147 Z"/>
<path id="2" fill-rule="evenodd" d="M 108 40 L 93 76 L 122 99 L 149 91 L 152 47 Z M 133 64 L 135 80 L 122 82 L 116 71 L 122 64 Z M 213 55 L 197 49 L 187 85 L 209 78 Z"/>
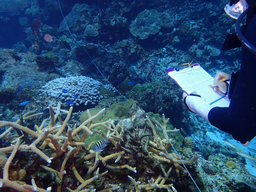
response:
<path id="1" fill-rule="evenodd" d="M 192 60 L 213 77 L 239 69 L 240 48 L 221 50 L 235 22 L 225 5 L 1 1 L 2 190 L 197 191 L 183 162 L 201 191 L 252 191 L 250 162 L 214 141 L 165 73 Z"/>

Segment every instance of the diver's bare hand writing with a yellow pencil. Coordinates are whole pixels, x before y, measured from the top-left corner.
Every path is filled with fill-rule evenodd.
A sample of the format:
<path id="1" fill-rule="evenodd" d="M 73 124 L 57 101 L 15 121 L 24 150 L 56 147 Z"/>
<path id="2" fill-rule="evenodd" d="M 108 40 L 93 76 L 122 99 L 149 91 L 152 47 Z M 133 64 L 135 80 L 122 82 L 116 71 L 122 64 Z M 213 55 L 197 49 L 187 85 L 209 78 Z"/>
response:
<path id="1" fill-rule="evenodd" d="M 226 79 L 225 81 L 227 81 L 227 80 L 230 80 L 230 78 L 231 78 L 230 74 L 218 71 L 212 82 L 212 86 L 214 86 L 213 87 L 214 91 L 221 91 L 222 93 L 227 93 L 227 83 L 222 82 L 220 80 Z"/>

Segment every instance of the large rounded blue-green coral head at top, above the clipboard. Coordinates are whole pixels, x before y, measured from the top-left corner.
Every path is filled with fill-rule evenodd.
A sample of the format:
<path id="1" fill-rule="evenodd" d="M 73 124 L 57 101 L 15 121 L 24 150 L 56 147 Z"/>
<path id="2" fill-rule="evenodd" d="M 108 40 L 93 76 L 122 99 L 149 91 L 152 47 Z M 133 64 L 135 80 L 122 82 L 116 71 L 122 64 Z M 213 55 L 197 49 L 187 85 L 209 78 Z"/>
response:
<path id="1" fill-rule="evenodd" d="M 144 10 L 130 25 L 130 31 L 134 37 L 146 39 L 150 34 L 155 35 L 163 25 L 160 19 L 161 13 L 155 9 Z"/>

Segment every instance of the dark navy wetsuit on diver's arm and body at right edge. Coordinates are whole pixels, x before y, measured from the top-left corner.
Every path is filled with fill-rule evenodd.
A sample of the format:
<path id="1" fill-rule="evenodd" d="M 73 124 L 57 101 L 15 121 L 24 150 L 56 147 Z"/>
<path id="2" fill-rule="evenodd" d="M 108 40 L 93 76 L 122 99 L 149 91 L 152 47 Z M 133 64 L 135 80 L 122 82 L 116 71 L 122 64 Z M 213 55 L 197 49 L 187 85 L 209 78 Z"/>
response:
<path id="1" fill-rule="evenodd" d="M 256 45 L 256 17 L 244 34 Z M 214 107 L 208 113 L 209 122 L 220 130 L 230 133 L 244 143 L 256 136 L 256 56 L 242 46 L 241 68 L 229 107 Z"/>

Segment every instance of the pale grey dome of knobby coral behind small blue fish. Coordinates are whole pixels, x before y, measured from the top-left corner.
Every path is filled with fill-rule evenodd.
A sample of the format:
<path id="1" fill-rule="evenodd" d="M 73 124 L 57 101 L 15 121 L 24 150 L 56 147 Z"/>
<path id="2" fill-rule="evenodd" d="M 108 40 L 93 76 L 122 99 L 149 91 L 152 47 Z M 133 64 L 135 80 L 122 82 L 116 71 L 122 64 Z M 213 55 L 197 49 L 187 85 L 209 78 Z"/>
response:
<path id="1" fill-rule="evenodd" d="M 39 90 L 42 94 L 47 94 L 50 97 L 58 98 L 63 101 L 73 101 L 73 105 L 79 104 L 96 104 L 103 97 L 100 95 L 99 88 L 102 83 L 85 76 L 62 77 L 49 81 Z M 62 93 L 62 90 L 68 90 L 67 93 Z M 79 94 L 77 98 L 74 98 Z"/>

